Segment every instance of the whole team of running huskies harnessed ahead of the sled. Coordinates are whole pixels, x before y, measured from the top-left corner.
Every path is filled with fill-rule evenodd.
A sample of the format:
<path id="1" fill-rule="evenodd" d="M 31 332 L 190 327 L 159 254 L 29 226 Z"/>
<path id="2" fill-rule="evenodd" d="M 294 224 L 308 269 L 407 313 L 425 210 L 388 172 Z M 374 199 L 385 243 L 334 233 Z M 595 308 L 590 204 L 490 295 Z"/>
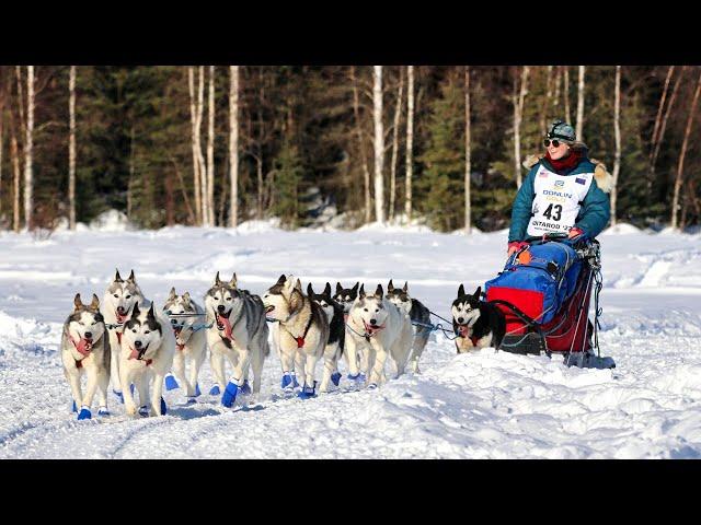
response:
<path id="1" fill-rule="evenodd" d="M 344 289 L 337 283 L 332 295 L 330 283 L 321 293 L 308 284 L 304 293 L 299 279 L 283 275 L 261 298 L 240 289 L 235 273 L 230 281 L 220 280 L 217 273 L 204 296 L 204 306 L 188 292 L 179 295 L 173 288 L 158 310 L 143 296 L 134 270 L 126 280 L 117 270 L 102 302 L 93 294 L 91 303 L 84 304 L 77 294 L 73 312 L 64 324 L 61 360 L 73 411 L 79 420 L 90 419 L 97 394 L 97 413 L 108 415 L 111 380 L 114 394 L 130 416 L 164 415 L 163 384 L 168 389 L 177 388 L 179 381 L 187 402 L 195 402 L 200 395 L 197 377 L 206 348 L 215 378 L 209 394 L 220 395 L 221 404 L 231 407 L 239 393 L 256 394 L 261 389 L 263 362 L 269 354 L 266 320 L 274 322 L 269 330 L 281 365 L 280 386 L 286 392 L 299 388 L 301 398 L 327 392 L 330 382 L 338 386 L 342 357 L 348 380 L 368 388 L 386 381 L 388 357 L 397 377 L 407 364 L 417 373 L 432 331 L 428 308 L 410 296 L 406 283 L 394 288 L 390 280 L 387 293 L 381 284 L 374 293 L 367 293 L 365 285 L 358 287 Z M 503 315 L 481 302 L 480 292 L 466 294 L 460 284 L 452 303 L 459 353 L 472 348 L 498 348 L 504 336 Z M 320 360 L 321 383 L 314 373 Z M 226 361 L 232 369 L 228 380 Z"/>

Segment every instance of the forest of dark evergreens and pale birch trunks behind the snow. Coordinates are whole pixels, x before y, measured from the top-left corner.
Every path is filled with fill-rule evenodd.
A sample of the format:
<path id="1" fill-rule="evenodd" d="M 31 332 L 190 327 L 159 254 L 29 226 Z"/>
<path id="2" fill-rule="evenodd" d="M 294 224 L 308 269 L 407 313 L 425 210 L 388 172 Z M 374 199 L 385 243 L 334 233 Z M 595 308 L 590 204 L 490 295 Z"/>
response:
<path id="1" fill-rule="evenodd" d="M 617 179 L 612 222 L 701 223 L 697 66 L 3 66 L 0 229 L 279 218 L 508 225 L 555 118 Z M 329 215 L 326 215 L 329 217 Z"/>

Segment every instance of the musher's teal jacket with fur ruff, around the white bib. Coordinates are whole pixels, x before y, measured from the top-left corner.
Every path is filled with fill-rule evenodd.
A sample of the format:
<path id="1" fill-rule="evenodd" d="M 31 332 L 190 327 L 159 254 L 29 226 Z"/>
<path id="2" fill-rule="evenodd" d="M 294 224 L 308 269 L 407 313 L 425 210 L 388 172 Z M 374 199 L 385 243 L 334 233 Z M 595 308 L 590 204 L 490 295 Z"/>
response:
<path id="1" fill-rule="evenodd" d="M 535 164 L 533 164 L 535 162 Z M 594 180 L 589 186 L 589 191 L 584 198 L 579 214 L 574 224 L 589 237 L 595 238 L 606 228 L 611 215 L 611 203 L 609 202 L 609 192 L 612 187 L 611 175 L 606 171 L 606 166 L 598 161 L 589 160 L 587 150 L 582 150 L 582 160 L 574 168 L 570 171 L 559 172 L 544 158 L 529 156 L 524 165 L 531 167 L 521 185 L 514 207 L 512 209 L 512 226 L 508 231 L 508 242 L 525 241 L 528 237 L 526 230 L 531 217 L 531 207 L 533 203 L 533 178 L 538 173 L 539 166 L 544 166 L 558 175 L 578 175 L 581 173 L 594 172 Z"/>

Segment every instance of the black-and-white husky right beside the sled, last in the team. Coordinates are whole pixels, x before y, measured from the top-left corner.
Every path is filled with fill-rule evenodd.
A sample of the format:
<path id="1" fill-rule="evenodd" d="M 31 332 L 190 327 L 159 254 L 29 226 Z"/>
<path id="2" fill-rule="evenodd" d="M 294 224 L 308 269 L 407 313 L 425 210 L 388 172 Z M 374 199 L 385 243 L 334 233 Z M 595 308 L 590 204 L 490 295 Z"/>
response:
<path id="1" fill-rule="evenodd" d="M 486 347 L 498 350 L 506 334 L 504 313 L 493 304 L 480 301 L 481 293 L 482 287 L 478 287 L 474 294 L 466 294 L 464 287 L 460 284 L 458 298 L 452 302 L 452 329 L 458 336 L 458 353 Z"/>

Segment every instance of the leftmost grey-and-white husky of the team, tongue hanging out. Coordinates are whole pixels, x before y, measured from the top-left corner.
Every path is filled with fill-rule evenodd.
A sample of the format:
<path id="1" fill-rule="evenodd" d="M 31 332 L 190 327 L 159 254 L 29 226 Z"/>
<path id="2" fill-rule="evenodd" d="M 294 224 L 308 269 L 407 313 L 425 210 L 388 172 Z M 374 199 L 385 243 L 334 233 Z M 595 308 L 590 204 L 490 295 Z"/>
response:
<path id="1" fill-rule="evenodd" d="M 73 313 L 64 323 L 61 335 L 61 361 L 64 375 L 70 384 L 73 411 L 78 419 L 91 419 L 90 406 L 95 390 L 100 390 L 99 416 L 107 416 L 107 387 L 110 386 L 110 360 L 112 358 L 110 338 L 100 313 L 100 300 L 93 293 L 92 302 L 85 306 L 80 293 L 73 299 Z M 80 377 L 88 376 L 88 390 L 83 397 Z"/>

